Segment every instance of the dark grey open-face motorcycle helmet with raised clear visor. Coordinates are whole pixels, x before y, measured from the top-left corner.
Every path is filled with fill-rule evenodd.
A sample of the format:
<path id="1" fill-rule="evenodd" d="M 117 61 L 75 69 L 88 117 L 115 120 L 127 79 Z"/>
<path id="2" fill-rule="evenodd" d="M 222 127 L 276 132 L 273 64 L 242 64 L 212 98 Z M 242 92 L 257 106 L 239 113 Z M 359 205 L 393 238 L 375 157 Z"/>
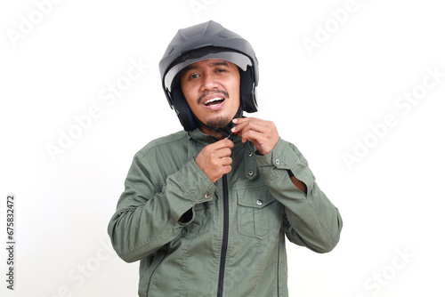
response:
<path id="1" fill-rule="evenodd" d="M 258 60 L 252 46 L 243 37 L 209 20 L 178 30 L 159 62 L 166 98 L 186 131 L 196 128 L 198 123 L 182 94 L 179 74 L 190 64 L 211 59 L 227 60 L 239 67 L 240 108 L 249 113 L 257 111 Z"/>

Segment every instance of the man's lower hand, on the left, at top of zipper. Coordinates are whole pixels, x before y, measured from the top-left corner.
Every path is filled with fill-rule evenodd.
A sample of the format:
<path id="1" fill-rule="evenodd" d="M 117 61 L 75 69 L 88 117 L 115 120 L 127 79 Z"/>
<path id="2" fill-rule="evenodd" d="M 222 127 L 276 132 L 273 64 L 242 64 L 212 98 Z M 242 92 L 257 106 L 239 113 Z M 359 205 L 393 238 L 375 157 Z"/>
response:
<path id="1" fill-rule="evenodd" d="M 206 176 L 215 183 L 224 174 L 231 172 L 231 140 L 219 140 L 203 148 L 196 158 L 196 163 Z"/>

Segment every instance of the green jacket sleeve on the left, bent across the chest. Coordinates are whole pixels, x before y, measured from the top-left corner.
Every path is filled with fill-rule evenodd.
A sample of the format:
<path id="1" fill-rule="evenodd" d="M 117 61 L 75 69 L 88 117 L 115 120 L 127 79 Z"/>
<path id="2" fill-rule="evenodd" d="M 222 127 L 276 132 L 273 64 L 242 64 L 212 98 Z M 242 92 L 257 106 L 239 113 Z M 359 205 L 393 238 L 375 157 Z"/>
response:
<path id="1" fill-rule="evenodd" d="M 193 220 L 182 223 L 182 215 L 193 205 L 211 200 L 215 189 L 193 160 L 162 181 L 157 164 L 136 154 L 108 226 L 118 256 L 138 261 L 174 240 Z"/>

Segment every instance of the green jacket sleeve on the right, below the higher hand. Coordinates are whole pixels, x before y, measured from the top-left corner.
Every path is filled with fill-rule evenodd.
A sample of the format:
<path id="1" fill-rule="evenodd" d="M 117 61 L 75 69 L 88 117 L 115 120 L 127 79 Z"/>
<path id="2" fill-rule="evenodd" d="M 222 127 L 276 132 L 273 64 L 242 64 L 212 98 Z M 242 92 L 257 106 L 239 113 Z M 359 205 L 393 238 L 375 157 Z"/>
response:
<path id="1" fill-rule="evenodd" d="M 271 195 L 285 206 L 283 228 L 287 238 L 317 253 L 334 249 L 340 239 L 342 217 L 320 190 L 300 151 L 279 139 L 271 153 L 256 156 L 256 162 Z M 289 172 L 304 182 L 307 194 L 295 187 Z"/>

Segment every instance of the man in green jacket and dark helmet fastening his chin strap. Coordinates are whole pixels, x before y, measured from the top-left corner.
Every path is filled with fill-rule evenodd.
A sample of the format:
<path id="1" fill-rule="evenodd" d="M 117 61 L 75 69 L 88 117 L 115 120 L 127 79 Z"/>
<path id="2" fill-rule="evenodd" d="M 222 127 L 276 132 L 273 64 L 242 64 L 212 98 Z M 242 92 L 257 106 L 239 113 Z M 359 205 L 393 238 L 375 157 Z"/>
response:
<path id="1" fill-rule="evenodd" d="M 178 31 L 159 63 L 184 131 L 134 157 L 109 237 L 140 263 L 140 296 L 287 296 L 285 236 L 327 253 L 342 219 L 303 155 L 255 112 L 258 67 L 214 21 Z"/>

